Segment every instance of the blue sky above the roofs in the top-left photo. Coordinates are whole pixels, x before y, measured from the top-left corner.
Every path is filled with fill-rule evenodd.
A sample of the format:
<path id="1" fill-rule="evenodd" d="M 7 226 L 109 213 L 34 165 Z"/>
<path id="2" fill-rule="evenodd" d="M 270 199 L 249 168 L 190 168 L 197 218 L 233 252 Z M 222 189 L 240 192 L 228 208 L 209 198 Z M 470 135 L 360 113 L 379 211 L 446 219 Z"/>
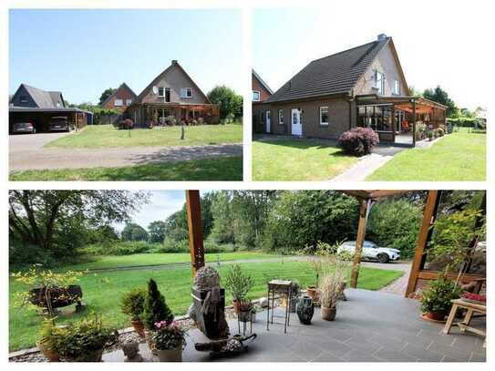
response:
<path id="1" fill-rule="evenodd" d="M 226 47 L 228 46 L 228 47 Z M 9 16 L 9 92 L 21 83 L 71 103 L 122 82 L 139 94 L 178 59 L 206 94 L 242 93 L 242 15 L 236 10 L 25 10 Z"/>

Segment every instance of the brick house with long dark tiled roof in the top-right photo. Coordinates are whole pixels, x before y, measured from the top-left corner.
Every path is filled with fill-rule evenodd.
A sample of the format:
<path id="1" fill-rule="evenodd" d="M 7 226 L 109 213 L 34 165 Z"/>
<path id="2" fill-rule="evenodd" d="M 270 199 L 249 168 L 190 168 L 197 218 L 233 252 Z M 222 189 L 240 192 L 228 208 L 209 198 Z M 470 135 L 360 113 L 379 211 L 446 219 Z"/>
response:
<path id="1" fill-rule="evenodd" d="M 417 124 L 445 124 L 446 107 L 408 96 L 406 77 L 391 37 L 316 59 L 287 81 L 253 115 L 263 132 L 338 139 L 369 127 L 381 141 L 416 144 Z"/>

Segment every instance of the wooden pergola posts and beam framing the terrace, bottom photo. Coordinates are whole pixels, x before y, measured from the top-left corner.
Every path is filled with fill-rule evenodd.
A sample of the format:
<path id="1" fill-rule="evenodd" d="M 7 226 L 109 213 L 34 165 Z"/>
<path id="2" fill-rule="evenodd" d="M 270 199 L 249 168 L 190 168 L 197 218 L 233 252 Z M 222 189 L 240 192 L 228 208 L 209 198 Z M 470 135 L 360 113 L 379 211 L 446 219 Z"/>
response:
<path id="1" fill-rule="evenodd" d="M 373 202 L 378 199 L 399 196 L 407 193 L 407 190 L 394 191 L 343 191 L 344 193 L 356 197 L 359 201 L 359 222 L 357 225 L 356 252 L 353 258 L 351 271 L 351 287 L 356 288 L 359 276 L 359 268 L 363 252 L 363 243 L 366 236 L 366 222 Z M 438 278 L 438 272 L 424 270 L 426 262 L 426 248 L 433 232 L 432 226 L 437 218 L 438 205 L 441 191 L 428 191 L 428 198 L 423 211 L 423 222 L 419 228 L 418 242 L 416 245 L 414 261 L 407 283 L 406 297 L 418 289 L 418 283 L 425 280 Z M 486 196 L 485 196 L 486 197 Z M 192 273 L 204 266 L 204 247 L 201 232 L 201 201 L 200 191 L 186 191 L 187 214 L 189 226 L 189 246 L 191 251 Z M 473 280 L 481 279 L 480 275 L 463 274 L 461 281 L 469 283 Z"/>

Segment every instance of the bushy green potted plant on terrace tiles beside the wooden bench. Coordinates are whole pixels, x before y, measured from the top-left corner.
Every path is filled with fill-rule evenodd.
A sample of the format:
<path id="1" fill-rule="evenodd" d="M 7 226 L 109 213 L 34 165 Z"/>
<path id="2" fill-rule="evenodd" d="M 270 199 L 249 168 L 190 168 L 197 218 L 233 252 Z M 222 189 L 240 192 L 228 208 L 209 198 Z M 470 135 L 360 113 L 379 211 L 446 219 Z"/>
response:
<path id="1" fill-rule="evenodd" d="M 451 301 L 459 299 L 461 291 L 460 286 L 440 275 L 422 292 L 421 312 L 428 319 L 443 321 L 452 307 Z"/>

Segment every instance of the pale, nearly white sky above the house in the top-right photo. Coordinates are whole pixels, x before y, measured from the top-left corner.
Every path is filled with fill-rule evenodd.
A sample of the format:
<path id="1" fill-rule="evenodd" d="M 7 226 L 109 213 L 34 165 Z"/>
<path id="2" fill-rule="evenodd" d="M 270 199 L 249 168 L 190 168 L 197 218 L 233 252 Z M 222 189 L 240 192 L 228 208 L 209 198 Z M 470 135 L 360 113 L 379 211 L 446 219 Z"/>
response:
<path id="1" fill-rule="evenodd" d="M 491 85 L 490 2 L 417 0 L 328 2 L 326 8 L 253 11 L 253 67 L 273 89 L 312 60 L 392 36 L 408 85 L 440 85 L 459 107 L 488 107 Z"/>

